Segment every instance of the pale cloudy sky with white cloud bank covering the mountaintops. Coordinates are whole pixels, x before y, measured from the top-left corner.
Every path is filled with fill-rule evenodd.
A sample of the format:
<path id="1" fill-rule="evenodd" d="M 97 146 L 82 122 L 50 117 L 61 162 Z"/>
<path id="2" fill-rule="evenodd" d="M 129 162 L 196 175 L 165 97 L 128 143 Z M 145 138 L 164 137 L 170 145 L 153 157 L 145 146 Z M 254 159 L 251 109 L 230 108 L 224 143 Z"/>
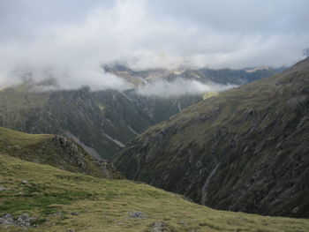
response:
<path id="1" fill-rule="evenodd" d="M 125 89 L 100 66 L 289 66 L 309 48 L 307 0 L 0 0 L 0 87 L 31 74 Z"/>

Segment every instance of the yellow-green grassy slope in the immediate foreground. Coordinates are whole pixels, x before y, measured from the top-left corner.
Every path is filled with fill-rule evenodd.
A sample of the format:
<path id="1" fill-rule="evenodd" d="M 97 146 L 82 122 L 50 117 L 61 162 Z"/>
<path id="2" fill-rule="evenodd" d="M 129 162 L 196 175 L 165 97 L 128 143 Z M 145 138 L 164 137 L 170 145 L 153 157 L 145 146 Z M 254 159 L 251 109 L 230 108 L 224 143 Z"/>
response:
<path id="1" fill-rule="evenodd" d="M 36 216 L 39 227 L 28 231 L 151 231 L 155 221 L 165 224 L 164 231 L 309 230 L 308 220 L 215 211 L 147 184 L 84 176 L 3 154 L 0 185 L 10 188 L 0 191 L 0 216 Z M 147 218 L 128 217 L 136 211 Z"/>

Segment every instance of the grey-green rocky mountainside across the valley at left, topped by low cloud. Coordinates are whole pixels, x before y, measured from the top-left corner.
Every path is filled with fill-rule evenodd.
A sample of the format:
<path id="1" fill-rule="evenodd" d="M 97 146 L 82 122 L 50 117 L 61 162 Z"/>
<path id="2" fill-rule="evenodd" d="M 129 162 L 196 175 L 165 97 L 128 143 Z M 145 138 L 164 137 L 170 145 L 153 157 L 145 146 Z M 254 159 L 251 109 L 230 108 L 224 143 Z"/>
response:
<path id="1" fill-rule="evenodd" d="M 109 158 L 152 123 L 117 91 L 37 92 L 33 86 L 0 91 L 0 126 L 31 133 L 63 134 L 96 157 Z"/>

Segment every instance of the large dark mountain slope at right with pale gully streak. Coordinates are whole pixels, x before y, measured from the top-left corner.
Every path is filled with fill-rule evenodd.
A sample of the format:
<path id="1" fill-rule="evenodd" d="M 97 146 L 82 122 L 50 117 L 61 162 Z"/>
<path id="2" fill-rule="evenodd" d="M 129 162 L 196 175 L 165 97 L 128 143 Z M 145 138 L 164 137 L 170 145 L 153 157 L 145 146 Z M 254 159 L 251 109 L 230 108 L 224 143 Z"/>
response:
<path id="1" fill-rule="evenodd" d="M 216 209 L 309 217 L 309 59 L 222 92 L 133 139 L 124 176 Z"/>

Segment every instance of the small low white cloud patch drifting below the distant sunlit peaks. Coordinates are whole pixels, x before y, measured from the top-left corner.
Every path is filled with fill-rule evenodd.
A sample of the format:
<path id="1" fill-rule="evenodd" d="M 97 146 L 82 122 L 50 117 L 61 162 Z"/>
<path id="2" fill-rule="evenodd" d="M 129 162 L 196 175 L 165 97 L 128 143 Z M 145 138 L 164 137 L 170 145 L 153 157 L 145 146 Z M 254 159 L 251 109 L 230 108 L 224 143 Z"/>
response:
<path id="1" fill-rule="evenodd" d="M 180 95 L 221 92 L 232 87 L 236 87 L 236 85 L 220 85 L 212 82 L 203 84 L 196 80 L 181 78 L 175 79 L 173 81 L 157 79 L 147 86 L 140 86 L 137 89 L 137 93 L 149 97 L 170 98 Z"/>

